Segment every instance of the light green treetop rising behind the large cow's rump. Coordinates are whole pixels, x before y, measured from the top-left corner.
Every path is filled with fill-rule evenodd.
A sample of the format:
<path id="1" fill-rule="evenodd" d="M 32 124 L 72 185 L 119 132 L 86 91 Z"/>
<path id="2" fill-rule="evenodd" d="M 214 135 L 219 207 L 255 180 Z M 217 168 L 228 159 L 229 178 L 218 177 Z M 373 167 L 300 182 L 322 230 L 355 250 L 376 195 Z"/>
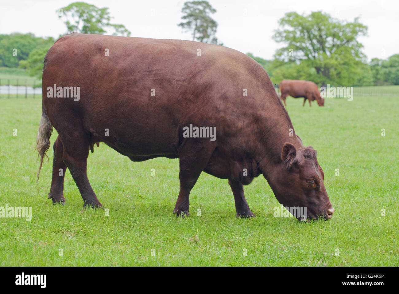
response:
<path id="1" fill-rule="evenodd" d="M 105 34 L 107 28 L 113 30 L 113 35 L 130 36 L 130 31 L 122 24 L 111 24 L 108 8 L 98 8 L 85 2 L 74 2 L 57 10 L 67 33 Z"/>

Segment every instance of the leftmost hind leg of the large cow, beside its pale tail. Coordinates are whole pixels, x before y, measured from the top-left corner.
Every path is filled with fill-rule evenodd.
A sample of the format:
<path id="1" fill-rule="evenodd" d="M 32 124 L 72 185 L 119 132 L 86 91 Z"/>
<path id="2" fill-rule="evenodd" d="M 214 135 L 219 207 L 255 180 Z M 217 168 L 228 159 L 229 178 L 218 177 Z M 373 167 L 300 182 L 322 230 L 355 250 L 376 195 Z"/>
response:
<path id="1" fill-rule="evenodd" d="M 62 160 L 64 151 L 61 138 L 59 136 L 54 142 L 53 176 L 51 178 L 51 188 L 48 198 L 53 200 L 53 204 L 65 204 L 64 198 L 64 176 L 67 166 Z"/>

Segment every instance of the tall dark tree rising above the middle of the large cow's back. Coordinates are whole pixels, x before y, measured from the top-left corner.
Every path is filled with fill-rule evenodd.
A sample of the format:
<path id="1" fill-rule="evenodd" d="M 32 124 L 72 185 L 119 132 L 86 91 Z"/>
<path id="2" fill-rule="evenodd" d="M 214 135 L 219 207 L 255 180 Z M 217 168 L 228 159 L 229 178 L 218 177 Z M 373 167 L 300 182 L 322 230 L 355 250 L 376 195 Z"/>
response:
<path id="1" fill-rule="evenodd" d="M 215 37 L 217 22 L 209 15 L 215 13 L 208 1 L 185 2 L 182 8 L 183 20 L 178 26 L 186 31 L 192 31 L 193 41 L 223 45 Z"/>

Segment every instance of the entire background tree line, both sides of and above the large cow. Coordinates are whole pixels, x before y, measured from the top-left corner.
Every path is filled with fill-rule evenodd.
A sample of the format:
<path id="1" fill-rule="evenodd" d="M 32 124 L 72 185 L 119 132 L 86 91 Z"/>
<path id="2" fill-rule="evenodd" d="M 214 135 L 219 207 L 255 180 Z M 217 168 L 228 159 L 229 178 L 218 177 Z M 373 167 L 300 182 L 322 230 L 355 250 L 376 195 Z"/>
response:
<path id="1" fill-rule="evenodd" d="M 185 2 L 183 21 L 177 25 L 191 32 L 194 41 L 223 45 L 215 36 L 218 24 L 211 17 L 215 12 L 207 1 Z M 75 2 L 55 13 L 64 22 L 66 33 L 130 36 L 124 25 L 111 23 L 108 8 Z M 321 11 L 308 15 L 288 12 L 272 36 L 283 44 L 272 60 L 247 55 L 267 70 L 274 83 L 299 79 L 312 80 L 320 86 L 398 85 L 399 54 L 367 62 L 363 44 L 358 41 L 366 35 L 367 26 L 358 18 L 347 22 Z M 31 33 L 0 35 L 0 66 L 26 68 L 31 76 L 41 78 L 44 56 L 54 42 L 51 37 L 40 38 Z"/>

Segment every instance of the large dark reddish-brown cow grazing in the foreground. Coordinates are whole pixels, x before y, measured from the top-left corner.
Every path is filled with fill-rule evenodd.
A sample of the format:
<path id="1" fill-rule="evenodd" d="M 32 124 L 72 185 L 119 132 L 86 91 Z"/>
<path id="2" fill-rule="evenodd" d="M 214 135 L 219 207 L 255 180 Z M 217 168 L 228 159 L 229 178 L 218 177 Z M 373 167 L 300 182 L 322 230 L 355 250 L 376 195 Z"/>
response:
<path id="1" fill-rule="evenodd" d="M 48 196 L 53 203 L 65 202 L 69 168 L 85 206 L 102 207 L 86 170 L 89 150 L 104 142 L 132 161 L 179 158 L 178 216 L 189 215 L 190 191 L 202 171 L 229 180 L 240 217 L 255 216 L 243 185 L 260 174 L 281 204 L 306 207 L 304 218 L 328 219 L 334 212 L 316 151 L 292 134 L 262 66 L 236 50 L 69 34 L 45 57 L 42 108 L 40 167 L 52 126 L 59 134 Z"/>

